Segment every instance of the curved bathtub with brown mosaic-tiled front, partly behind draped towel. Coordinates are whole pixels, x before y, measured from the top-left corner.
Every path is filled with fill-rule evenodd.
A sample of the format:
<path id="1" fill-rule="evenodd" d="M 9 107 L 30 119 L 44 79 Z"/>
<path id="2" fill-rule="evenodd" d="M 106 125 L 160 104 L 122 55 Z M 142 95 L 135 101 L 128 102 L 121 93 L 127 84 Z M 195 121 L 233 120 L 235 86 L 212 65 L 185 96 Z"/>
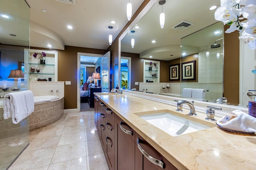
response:
<path id="1" fill-rule="evenodd" d="M 0 100 L 0 108 L 3 108 L 3 100 Z M 30 131 L 40 129 L 58 121 L 64 114 L 64 97 L 58 96 L 34 96 L 34 111 L 29 115 Z M 9 123 L 12 119 L 2 120 Z M 10 122 L 9 122 L 10 121 Z M 12 124 L 12 123 L 11 123 Z"/>

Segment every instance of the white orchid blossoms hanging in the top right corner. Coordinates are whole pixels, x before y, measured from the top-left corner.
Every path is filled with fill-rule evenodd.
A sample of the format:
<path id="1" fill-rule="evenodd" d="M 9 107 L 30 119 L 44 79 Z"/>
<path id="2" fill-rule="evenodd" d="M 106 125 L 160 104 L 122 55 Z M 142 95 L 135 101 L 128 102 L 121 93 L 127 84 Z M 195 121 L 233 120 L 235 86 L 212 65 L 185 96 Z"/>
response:
<path id="1" fill-rule="evenodd" d="M 256 0 L 220 0 L 220 7 L 216 9 L 214 17 L 230 25 L 225 33 L 242 31 L 244 27 L 239 38 L 244 39 L 250 49 L 256 49 Z M 247 22 L 240 22 L 244 18 L 248 19 Z"/>

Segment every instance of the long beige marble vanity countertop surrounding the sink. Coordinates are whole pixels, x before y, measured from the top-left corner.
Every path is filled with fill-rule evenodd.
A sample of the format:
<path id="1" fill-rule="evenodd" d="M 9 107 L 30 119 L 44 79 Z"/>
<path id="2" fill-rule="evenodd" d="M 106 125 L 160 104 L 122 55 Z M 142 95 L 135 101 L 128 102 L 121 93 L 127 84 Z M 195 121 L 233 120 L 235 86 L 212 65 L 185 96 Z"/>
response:
<path id="1" fill-rule="evenodd" d="M 253 170 L 256 167 L 256 136 L 223 131 L 215 121 L 205 120 L 205 113 L 189 116 L 188 109 L 178 112 L 176 106 L 129 94 L 95 94 L 179 170 Z M 138 116 L 167 110 L 211 128 L 172 137 Z"/>

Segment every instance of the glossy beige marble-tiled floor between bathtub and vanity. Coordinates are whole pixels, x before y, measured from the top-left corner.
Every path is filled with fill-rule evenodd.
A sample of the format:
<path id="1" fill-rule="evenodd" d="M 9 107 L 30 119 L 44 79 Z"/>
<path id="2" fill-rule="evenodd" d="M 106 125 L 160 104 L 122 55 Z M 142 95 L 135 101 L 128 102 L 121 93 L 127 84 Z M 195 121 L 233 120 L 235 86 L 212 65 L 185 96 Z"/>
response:
<path id="1" fill-rule="evenodd" d="M 94 111 L 64 114 L 30 132 L 30 145 L 9 170 L 108 170 Z"/>

